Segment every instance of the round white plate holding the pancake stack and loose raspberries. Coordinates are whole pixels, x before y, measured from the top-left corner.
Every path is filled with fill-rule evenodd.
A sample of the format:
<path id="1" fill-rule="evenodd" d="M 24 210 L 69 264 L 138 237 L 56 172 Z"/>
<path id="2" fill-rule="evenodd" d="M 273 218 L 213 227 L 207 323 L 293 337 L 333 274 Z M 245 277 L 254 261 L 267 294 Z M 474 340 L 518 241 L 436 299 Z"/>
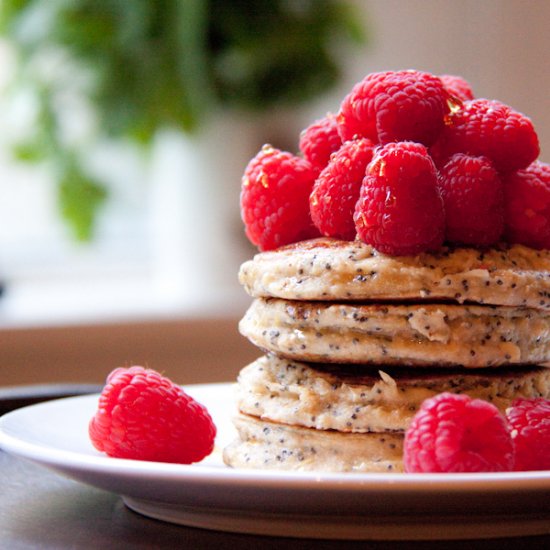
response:
<path id="1" fill-rule="evenodd" d="M 443 539 L 550 533 L 550 472 L 329 474 L 236 470 L 231 384 L 189 386 L 218 427 L 214 453 L 185 466 L 108 458 L 87 425 L 97 395 L 49 401 L 0 418 L 0 446 L 122 495 L 133 510 L 195 527 L 315 538 Z"/>

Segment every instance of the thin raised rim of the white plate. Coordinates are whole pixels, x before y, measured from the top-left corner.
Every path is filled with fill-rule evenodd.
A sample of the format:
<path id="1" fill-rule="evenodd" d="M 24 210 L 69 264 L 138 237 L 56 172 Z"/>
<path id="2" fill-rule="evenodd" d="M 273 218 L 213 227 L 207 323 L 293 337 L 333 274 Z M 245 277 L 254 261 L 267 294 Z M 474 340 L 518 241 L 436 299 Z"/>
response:
<path id="1" fill-rule="evenodd" d="M 202 393 L 213 389 L 229 389 L 234 382 L 217 382 L 212 384 L 190 384 L 183 386 L 190 393 Z M 295 472 L 281 470 L 238 469 L 227 466 L 202 464 L 166 464 L 141 460 L 119 459 L 107 456 L 90 455 L 84 452 L 68 451 L 45 444 L 29 442 L 10 434 L 10 425 L 21 420 L 33 411 L 48 410 L 57 406 L 78 406 L 83 401 L 98 399 L 99 394 L 66 397 L 47 402 L 28 405 L 11 411 L 0 417 L 0 448 L 4 451 L 31 460 L 35 463 L 54 469 L 67 468 L 78 471 L 94 471 L 108 475 L 147 476 L 159 480 L 177 478 L 186 483 L 209 482 L 218 484 L 257 485 L 274 488 L 285 485 L 321 490 L 323 492 L 369 492 L 396 491 L 432 493 L 441 491 L 495 491 L 504 489 L 514 491 L 550 491 L 550 471 L 530 472 L 491 472 L 491 473 L 456 473 L 456 474 L 410 474 L 410 473 L 331 473 L 331 472 Z"/>

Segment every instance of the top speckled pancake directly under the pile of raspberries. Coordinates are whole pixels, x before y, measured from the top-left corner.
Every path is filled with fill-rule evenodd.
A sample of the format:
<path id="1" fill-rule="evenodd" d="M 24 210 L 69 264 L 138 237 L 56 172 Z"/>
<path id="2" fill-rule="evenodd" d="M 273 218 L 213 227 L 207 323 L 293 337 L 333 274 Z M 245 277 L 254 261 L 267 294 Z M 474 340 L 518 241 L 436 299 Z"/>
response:
<path id="1" fill-rule="evenodd" d="M 257 254 L 239 281 L 254 297 L 450 300 L 550 310 L 550 251 L 522 245 L 387 256 L 360 241 L 312 239 Z"/>

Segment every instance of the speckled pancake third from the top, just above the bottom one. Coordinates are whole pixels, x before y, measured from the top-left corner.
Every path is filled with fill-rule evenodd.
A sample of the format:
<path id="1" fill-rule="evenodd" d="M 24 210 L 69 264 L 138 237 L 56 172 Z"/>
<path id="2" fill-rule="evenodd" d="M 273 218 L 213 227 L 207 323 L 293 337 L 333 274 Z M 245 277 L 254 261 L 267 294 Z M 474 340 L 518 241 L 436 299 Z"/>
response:
<path id="1" fill-rule="evenodd" d="M 464 393 L 504 412 L 518 397 L 550 398 L 550 368 L 371 369 L 311 365 L 275 355 L 239 373 L 241 412 L 283 424 L 340 432 L 405 430 L 424 399 Z"/>

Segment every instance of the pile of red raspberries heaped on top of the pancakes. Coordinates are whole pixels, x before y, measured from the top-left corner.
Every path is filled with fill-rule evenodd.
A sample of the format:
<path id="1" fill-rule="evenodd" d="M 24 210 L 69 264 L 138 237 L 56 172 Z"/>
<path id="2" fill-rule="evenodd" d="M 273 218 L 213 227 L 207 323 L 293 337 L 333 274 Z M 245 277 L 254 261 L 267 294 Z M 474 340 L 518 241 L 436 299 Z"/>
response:
<path id="1" fill-rule="evenodd" d="M 246 167 L 241 215 L 260 250 L 323 235 L 394 256 L 550 248 L 550 165 L 531 120 L 461 77 L 369 74 L 299 149 L 265 145 Z"/>

